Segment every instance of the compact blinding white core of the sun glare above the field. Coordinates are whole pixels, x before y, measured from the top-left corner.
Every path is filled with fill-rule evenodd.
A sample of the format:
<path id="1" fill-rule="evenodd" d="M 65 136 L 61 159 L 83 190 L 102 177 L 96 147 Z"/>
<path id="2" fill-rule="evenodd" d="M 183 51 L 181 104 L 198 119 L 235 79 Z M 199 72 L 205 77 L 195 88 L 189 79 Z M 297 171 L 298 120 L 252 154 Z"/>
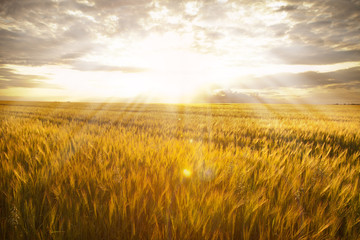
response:
<path id="1" fill-rule="evenodd" d="M 127 81 L 126 87 L 133 93 L 146 92 L 161 96 L 168 102 L 178 102 L 194 95 L 205 85 L 221 81 L 224 68 L 220 59 L 186 50 L 190 44 L 186 34 L 174 33 L 154 34 L 135 44 L 129 50 L 129 61 L 147 71 L 132 74 L 136 80 Z M 124 61 L 114 56 L 111 58 L 113 64 Z"/>

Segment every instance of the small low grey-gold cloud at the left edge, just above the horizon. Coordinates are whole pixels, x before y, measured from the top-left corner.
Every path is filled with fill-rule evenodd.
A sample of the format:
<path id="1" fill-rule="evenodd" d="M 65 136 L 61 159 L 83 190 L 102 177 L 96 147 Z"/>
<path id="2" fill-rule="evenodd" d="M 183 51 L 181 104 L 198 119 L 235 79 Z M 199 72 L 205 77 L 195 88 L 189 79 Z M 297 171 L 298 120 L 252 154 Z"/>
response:
<path id="1" fill-rule="evenodd" d="M 44 83 L 41 81 L 45 79 L 47 78 L 44 76 L 18 74 L 10 68 L 0 68 L 0 89 L 10 87 L 59 88 L 56 85 Z"/>

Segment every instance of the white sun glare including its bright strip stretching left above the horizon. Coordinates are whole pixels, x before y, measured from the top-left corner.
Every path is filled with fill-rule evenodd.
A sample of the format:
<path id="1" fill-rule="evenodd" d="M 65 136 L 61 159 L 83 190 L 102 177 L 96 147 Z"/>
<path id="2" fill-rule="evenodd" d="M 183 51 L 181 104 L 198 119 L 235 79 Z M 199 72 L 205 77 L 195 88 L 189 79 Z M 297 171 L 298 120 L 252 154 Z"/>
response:
<path id="1" fill-rule="evenodd" d="M 142 71 L 53 69 L 54 83 L 69 94 L 93 99 L 137 99 L 146 102 L 191 102 L 199 92 L 236 75 L 219 56 L 193 47 L 192 37 L 174 32 L 151 34 L 130 45 L 108 39 L 109 52 L 84 56 L 82 62 Z M 126 48 L 124 48 L 126 46 Z"/>

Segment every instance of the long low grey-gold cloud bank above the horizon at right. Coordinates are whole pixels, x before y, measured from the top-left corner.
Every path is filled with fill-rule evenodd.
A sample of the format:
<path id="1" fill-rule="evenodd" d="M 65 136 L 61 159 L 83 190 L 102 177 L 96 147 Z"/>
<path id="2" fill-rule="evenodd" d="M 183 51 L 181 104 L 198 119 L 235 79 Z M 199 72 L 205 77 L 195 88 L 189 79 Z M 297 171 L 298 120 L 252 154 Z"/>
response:
<path id="1" fill-rule="evenodd" d="M 360 67 L 248 76 L 228 88 L 233 92 L 258 92 L 256 99 L 267 103 L 360 103 Z"/>

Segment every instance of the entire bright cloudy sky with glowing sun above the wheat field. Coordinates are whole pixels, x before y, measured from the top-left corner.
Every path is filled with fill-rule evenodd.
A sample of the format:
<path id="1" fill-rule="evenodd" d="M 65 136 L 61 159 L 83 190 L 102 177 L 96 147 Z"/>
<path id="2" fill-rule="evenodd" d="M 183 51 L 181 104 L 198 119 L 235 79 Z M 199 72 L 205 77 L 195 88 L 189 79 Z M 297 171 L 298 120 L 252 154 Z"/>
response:
<path id="1" fill-rule="evenodd" d="M 359 0 L 0 0 L 0 99 L 360 103 Z"/>

